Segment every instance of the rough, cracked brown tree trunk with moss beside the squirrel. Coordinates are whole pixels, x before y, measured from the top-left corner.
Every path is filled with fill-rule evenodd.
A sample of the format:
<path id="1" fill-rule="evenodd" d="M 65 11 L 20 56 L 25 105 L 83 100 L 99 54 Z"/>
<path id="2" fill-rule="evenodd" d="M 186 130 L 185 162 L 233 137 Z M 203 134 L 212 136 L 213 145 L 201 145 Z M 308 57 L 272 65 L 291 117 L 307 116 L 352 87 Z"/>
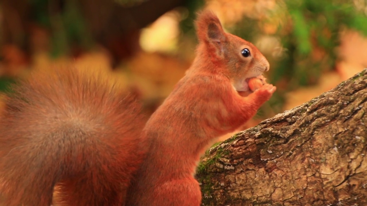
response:
<path id="1" fill-rule="evenodd" d="M 367 69 L 211 148 L 203 205 L 367 205 Z"/>

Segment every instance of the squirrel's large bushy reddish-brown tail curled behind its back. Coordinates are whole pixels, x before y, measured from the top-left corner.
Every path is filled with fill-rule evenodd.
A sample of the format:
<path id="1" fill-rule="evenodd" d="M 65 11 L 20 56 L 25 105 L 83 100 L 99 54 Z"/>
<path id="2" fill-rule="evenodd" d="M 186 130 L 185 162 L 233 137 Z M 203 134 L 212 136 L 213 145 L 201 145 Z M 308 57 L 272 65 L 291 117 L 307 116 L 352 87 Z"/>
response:
<path id="1" fill-rule="evenodd" d="M 68 68 L 13 85 L 0 110 L 0 205 L 124 205 L 146 118 L 106 80 Z"/>

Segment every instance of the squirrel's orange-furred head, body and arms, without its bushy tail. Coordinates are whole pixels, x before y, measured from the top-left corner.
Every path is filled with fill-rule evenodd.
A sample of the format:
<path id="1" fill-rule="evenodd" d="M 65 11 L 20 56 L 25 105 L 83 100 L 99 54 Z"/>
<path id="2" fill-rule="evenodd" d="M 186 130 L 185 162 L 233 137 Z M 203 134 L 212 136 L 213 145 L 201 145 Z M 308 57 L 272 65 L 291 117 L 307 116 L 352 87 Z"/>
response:
<path id="1" fill-rule="evenodd" d="M 128 192 L 130 206 L 199 206 L 194 179 L 202 152 L 217 137 L 255 115 L 275 87 L 265 84 L 250 95 L 246 79 L 269 69 L 251 43 L 225 33 L 217 16 L 202 12 L 196 22 L 196 59 L 174 91 L 143 129 L 150 148 Z M 251 55 L 241 55 L 247 48 Z"/>

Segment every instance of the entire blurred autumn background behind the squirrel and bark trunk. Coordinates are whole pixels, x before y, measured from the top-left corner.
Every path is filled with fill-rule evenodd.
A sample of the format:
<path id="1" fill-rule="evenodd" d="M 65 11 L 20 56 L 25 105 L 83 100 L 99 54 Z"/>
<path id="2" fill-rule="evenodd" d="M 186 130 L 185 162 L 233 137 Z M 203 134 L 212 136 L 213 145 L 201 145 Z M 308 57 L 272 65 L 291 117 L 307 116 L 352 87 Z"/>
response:
<path id="1" fill-rule="evenodd" d="M 0 91 L 33 69 L 104 70 L 152 113 L 195 57 L 204 8 L 270 62 L 277 91 L 241 129 L 367 67 L 367 0 L 1 0 Z"/>

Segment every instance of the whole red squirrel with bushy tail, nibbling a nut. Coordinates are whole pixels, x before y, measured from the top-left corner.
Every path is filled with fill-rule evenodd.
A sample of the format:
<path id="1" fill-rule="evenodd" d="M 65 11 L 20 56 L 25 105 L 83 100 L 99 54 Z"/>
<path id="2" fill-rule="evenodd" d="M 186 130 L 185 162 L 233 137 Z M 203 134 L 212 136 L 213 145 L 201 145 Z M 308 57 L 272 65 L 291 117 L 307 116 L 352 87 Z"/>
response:
<path id="1" fill-rule="evenodd" d="M 0 114 L 0 205 L 199 206 L 200 155 L 276 88 L 249 92 L 269 63 L 215 14 L 196 28 L 192 66 L 145 125 L 141 106 L 97 77 L 61 70 L 16 85 Z"/>

